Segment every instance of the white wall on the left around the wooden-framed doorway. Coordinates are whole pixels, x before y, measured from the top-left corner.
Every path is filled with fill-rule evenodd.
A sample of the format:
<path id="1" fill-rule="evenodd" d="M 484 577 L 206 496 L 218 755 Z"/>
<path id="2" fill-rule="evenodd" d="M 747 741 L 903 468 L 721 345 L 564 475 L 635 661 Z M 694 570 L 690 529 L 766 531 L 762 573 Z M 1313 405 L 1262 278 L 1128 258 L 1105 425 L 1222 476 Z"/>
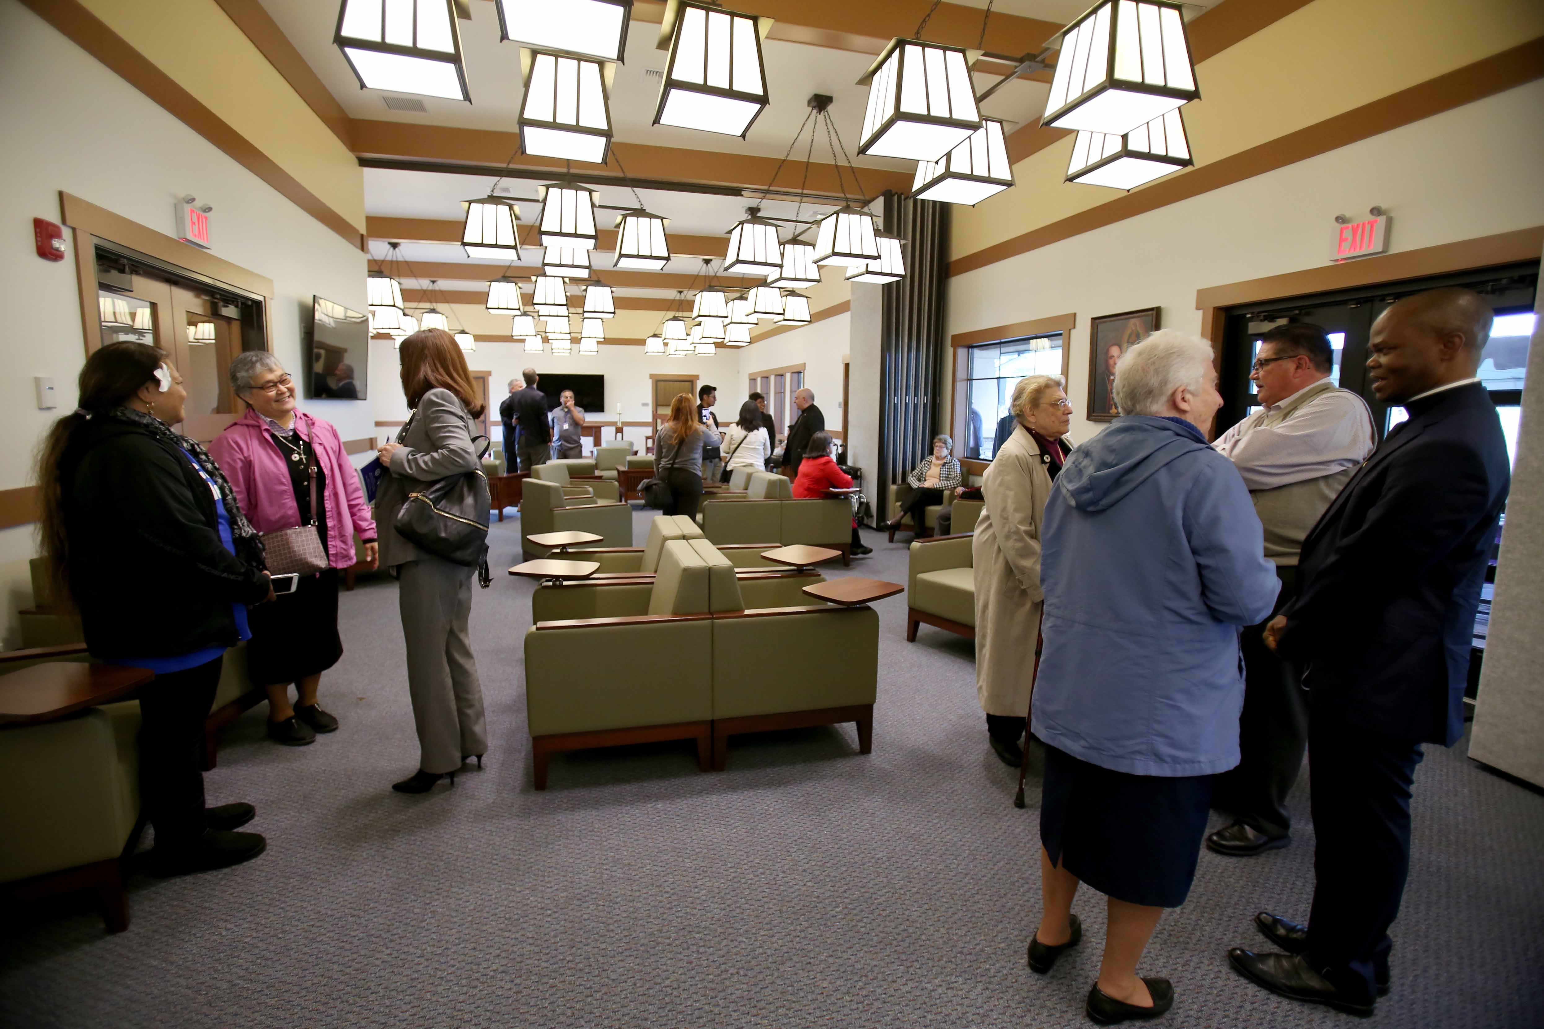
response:
<path id="1" fill-rule="evenodd" d="M 31 483 L 36 440 L 76 406 L 85 336 L 76 265 L 32 251 L 32 218 L 59 221 L 59 191 L 74 193 L 156 231 L 174 228 L 173 199 L 215 205 L 213 253 L 273 279 L 273 349 L 300 369 L 312 293 L 364 310 L 366 258 L 193 130 L 108 71 L 20 3 L 0 3 L 0 279 L 8 332 L 0 335 L 0 489 Z M 363 188 L 363 185 L 361 185 Z M 57 410 L 37 410 L 32 376 L 51 375 Z M 369 403 L 307 401 L 344 440 L 371 437 Z M 29 606 L 32 526 L 0 531 L 0 595 L 8 646 L 14 611 Z"/>

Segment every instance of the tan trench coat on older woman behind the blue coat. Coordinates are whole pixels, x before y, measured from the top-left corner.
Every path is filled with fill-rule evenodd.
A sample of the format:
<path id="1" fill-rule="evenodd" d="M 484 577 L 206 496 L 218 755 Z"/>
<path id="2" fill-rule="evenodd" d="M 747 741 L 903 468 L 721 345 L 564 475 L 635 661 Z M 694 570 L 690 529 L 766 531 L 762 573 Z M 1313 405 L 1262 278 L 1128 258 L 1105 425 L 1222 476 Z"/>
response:
<path id="1" fill-rule="evenodd" d="M 1041 628 L 1041 520 L 1051 477 L 1024 426 L 982 477 L 976 521 L 976 696 L 987 714 L 1030 713 Z"/>

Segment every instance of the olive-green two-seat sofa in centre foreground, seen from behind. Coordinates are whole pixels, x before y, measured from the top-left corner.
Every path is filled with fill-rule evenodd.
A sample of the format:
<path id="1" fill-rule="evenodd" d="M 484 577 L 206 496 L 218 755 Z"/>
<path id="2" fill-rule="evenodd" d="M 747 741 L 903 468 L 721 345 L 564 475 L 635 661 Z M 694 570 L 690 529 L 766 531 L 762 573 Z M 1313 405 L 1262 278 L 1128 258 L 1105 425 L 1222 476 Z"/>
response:
<path id="1" fill-rule="evenodd" d="M 866 606 L 753 608 L 746 574 L 764 572 L 736 571 L 707 540 L 670 540 L 647 583 L 593 586 L 616 591 L 605 597 L 607 609 L 630 614 L 539 620 L 527 631 L 537 790 L 547 788 L 553 753 L 588 747 L 693 739 L 698 767 L 707 770 L 724 767 L 736 733 L 855 722 L 858 750 L 871 751 L 879 614 Z M 769 636 L 789 634 L 824 659 L 797 668 L 747 660 Z M 574 676 L 576 653 L 625 654 L 627 666 Z"/>

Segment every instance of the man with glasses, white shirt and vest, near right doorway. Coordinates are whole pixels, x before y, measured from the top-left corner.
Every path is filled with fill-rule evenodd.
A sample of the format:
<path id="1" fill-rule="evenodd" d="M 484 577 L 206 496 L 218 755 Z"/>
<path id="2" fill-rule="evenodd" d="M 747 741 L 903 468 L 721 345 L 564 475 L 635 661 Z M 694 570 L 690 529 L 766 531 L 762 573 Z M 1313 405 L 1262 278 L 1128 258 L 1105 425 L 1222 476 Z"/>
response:
<path id="1" fill-rule="evenodd" d="M 1377 446 L 1366 401 L 1337 389 L 1332 367 L 1334 350 L 1319 326 L 1268 330 L 1249 370 L 1261 409 L 1212 444 L 1238 467 L 1265 526 L 1265 555 L 1282 580 L 1275 611 L 1297 595 L 1297 560 L 1308 531 Z M 1291 842 L 1286 795 L 1308 747 L 1308 705 L 1297 670 L 1265 646 L 1263 629 L 1257 625 L 1243 634 L 1240 762 L 1217 778 L 1214 793 L 1214 805 L 1234 821 L 1206 838 L 1210 850 L 1235 858 Z"/>

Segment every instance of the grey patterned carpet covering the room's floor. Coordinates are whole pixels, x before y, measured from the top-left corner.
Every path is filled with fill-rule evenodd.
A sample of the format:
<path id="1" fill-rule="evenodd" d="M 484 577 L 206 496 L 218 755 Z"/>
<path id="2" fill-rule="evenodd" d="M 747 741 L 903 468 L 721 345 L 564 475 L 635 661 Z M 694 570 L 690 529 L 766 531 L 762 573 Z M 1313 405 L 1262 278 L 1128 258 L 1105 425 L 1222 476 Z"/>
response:
<path id="1" fill-rule="evenodd" d="M 642 540 L 647 515 L 635 520 Z M 900 537 L 848 574 L 905 582 Z M 519 520 L 494 526 L 514 563 Z M 838 568 L 835 572 L 843 574 Z M 973 645 L 928 626 L 905 642 L 905 597 L 882 614 L 874 753 L 851 725 L 736 737 L 724 773 L 690 744 L 554 759 L 531 788 L 522 639 L 527 580 L 479 591 L 472 633 L 488 707 L 483 771 L 423 798 L 389 791 L 417 767 L 397 588 L 343 597 L 347 654 L 323 679 L 343 728 L 310 747 L 262 736 L 259 707 L 227 730 L 212 804 L 258 805 L 269 838 L 233 870 L 131 879 L 131 926 L 108 936 L 82 901 L 8 912 L 3 1026 L 1051 1026 L 1082 1000 L 1104 902 L 1081 895 L 1085 943 L 1036 977 L 1038 790 L 991 754 Z M 706 660 L 682 654 L 682 660 Z M 767 639 L 746 660 L 818 654 Z M 625 676 L 627 654 L 573 674 Z M 1544 796 L 1430 748 L 1416 847 L 1377 1024 L 1539 1026 Z M 1308 784 L 1292 847 L 1201 855 L 1189 902 L 1164 916 L 1141 970 L 1173 980 L 1158 1024 L 1349 1026 L 1234 975 L 1260 909 L 1302 918 L 1312 892 Z M 0 841 L 3 845 L 3 841 Z M 1527 1012 L 1533 1012 L 1529 1015 Z"/>

